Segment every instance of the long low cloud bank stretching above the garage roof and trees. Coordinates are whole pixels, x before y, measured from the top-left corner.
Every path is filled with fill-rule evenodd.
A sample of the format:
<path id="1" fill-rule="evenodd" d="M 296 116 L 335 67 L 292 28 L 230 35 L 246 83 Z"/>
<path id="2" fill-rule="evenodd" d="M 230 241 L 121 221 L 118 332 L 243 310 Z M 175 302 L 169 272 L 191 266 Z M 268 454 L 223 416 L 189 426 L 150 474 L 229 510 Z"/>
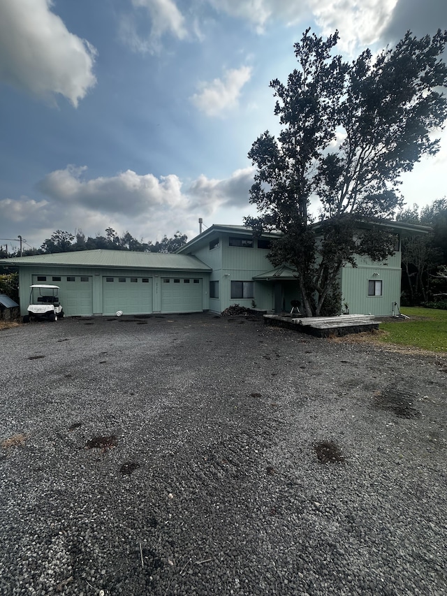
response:
<path id="1" fill-rule="evenodd" d="M 161 240 L 177 230 L 191 237 L 198 233 L 198 217 L 208 218 L 209 225 L 217 215 L 221 223 L 242 223 L 249 212 L 253 174 L 249 167 L 228 178 L 200 175 L 186 184 L 175 174 L 157 178 L 131 170 L 88 179 L 85 166 L 67 166 L 38 182 L 44 195 L 40 201 L 26 196 L 0 200 L 0 236 L 21 234 L 30 245 L 40 246 L 57 229 L 96 235 L 112 226 L 145 241 Z M 226 221 L 227 212 L 231 221 Z"/>

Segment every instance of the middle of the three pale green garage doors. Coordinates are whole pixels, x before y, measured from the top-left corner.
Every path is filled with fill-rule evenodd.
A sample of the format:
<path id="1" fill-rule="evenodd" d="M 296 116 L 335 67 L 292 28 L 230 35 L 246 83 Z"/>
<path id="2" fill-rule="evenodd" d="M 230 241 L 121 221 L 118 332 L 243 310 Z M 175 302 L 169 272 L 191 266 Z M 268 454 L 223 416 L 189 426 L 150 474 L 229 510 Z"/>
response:
<path id="1" fill-rule="evenodd" d="M 150 314 L 152 277 L 103 276 L 103 314 Z"/>

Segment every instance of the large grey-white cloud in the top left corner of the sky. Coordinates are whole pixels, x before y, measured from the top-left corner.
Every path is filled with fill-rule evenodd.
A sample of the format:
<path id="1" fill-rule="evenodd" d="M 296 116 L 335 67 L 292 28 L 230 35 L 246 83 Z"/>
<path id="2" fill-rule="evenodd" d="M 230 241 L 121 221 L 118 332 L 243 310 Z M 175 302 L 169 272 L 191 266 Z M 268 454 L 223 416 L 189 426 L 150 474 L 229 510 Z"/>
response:
<path id="1" fill-rule="evenodd" d="M 0 0 L 0 80 L 41 99 L 73 106 L 96 83 L 96 50 L 70 33 L 50 0 Z"/>

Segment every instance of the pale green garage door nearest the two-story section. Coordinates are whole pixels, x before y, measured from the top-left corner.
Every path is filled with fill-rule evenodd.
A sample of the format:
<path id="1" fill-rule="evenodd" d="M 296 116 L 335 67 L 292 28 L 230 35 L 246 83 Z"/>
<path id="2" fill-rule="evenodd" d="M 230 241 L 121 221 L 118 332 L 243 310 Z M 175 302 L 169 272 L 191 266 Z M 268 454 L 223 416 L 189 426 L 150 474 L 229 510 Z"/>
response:
<path id="1" fill-rule="evenodd" d="M 203 310 L 203 280 L 198 277 L 162 277 L 162 312 L 200 312 Z"/>

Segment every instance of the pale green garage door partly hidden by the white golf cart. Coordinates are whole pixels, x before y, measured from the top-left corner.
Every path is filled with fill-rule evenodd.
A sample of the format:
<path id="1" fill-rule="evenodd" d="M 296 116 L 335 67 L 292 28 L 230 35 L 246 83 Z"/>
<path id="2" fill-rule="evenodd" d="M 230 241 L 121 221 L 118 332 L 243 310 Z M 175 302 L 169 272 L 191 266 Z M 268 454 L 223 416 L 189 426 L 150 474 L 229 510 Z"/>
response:
<path id="1" fill-rule="evenodd" d="M 59 300 L 67 317 L 93 314 L 91 275 L 33 275 L 33 284 L 59 286 Z"/>

